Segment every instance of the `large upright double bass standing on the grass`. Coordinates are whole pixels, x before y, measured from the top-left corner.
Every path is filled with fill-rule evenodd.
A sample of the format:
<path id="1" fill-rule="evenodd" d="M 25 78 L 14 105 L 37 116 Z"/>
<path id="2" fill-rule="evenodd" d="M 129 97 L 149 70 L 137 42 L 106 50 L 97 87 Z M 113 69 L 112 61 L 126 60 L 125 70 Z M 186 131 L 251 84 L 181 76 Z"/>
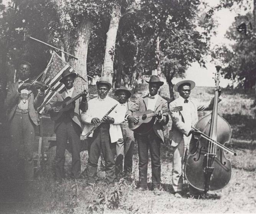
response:
<path id="1" fill-rule="evenodd" d="M 215 87 L 220 82 L 220 66 L 216 66 Z M 230 160 L 225 157 L 224 150 L 236 155 L 224 144 L 230 141 L 231 127 L 218 114 L 219 91 L 215 91 L 213 111 L 201 118 L 194 128 L 190 145 L 194 145 L 194 154 L 187 157 L 185 178 L 195 189 L 207 193 L 225 187 L 231 178 Z"/>

